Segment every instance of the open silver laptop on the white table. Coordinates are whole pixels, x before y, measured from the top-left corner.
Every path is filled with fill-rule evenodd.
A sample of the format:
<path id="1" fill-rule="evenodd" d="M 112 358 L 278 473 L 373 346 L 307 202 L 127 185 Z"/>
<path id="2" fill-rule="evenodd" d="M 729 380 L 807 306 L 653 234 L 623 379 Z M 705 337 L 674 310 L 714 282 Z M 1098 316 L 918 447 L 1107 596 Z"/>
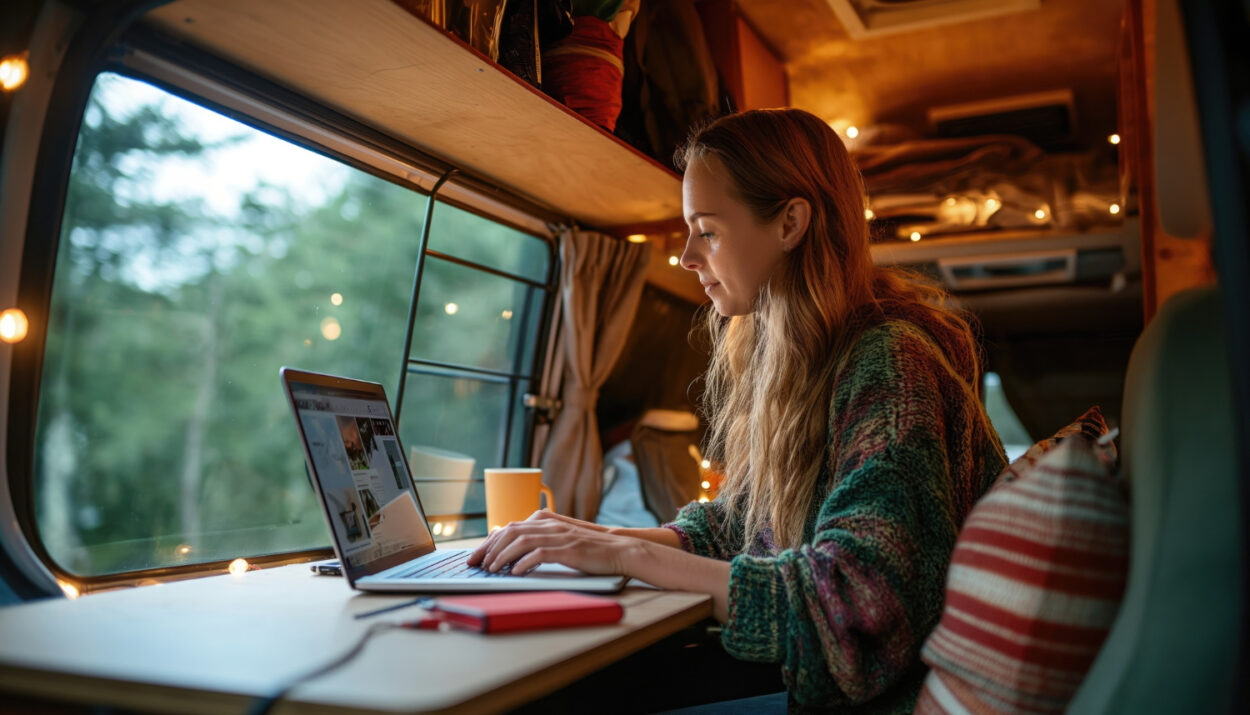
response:
<path id="1" fill-rule="evenodd" d="M 439 549 L 421 509 L 386 394 L 378 382 L 282 368 L 304 456 L 342 575 L 361 591 L 619 591 L 626 576 L 559 564 L 485 571 L 470 550 Z"/>

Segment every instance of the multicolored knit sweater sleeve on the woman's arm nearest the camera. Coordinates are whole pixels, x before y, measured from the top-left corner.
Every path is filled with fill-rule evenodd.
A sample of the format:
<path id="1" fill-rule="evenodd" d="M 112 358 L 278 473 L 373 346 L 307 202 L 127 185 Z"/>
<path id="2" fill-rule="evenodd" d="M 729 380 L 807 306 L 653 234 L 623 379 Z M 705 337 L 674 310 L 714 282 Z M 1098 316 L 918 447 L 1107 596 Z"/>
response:
<path id="1" fill-rule="evenodd" d="M 918 329 L 865 332 L 835 388 L 831 481 L 814 539 L 732 559 L 725 648 L 781 662 L 800 704 L 882 692 L 938 622 L 958 530 L 942 395 L 946 388 L 951 398 L 950 375 Z"/>

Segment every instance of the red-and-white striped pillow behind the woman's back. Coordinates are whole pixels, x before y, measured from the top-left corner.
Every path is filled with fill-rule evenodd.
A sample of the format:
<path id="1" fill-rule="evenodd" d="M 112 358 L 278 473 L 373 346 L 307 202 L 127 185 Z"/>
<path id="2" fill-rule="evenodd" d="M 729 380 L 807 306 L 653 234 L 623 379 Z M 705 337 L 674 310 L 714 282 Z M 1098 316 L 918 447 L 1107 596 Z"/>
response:
<path id="1" fill-rule="evenodd" d="M 921 651 L 931 670 L 916 712 L 1068 705 L 1128 579 L 1129 506 L 1111 476 L 1110 436 L 1069 435 L 1004 472 L 969 514 L 941 621 Z"/>

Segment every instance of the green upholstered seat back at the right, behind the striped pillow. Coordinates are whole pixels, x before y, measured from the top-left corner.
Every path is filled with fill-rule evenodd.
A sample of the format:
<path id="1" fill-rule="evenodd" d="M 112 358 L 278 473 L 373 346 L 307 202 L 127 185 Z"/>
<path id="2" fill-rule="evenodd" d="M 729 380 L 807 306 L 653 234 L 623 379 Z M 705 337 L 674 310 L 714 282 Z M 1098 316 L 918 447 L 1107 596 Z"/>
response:
<path id="1" fill-rule="evenodd" d="M 1170 299 L 1125 381 L 1129 585 L 1069 712 L 1226 712 L 1238 655 L 1240 515 L 1224 311 Z"/>

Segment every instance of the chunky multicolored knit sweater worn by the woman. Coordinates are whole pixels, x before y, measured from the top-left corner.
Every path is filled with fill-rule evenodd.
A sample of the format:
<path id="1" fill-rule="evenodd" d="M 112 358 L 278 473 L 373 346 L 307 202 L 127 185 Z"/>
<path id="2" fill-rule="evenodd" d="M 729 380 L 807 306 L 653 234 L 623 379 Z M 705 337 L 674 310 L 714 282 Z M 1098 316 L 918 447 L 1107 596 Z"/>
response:
<path id="1" fill-rule="evenodd" d="M 856 340 L 801 548 L 778 550 L 765 530 L 742 549 L 719 500 L 666 525 L 686 551 L 731 561 L 721 640 L 780 662 L 791 710 L 911 711 L 956 532 L 1006 466 L 968 386 L 975 358 L 934 335 L 942 328 L 888 320 Z"/>

